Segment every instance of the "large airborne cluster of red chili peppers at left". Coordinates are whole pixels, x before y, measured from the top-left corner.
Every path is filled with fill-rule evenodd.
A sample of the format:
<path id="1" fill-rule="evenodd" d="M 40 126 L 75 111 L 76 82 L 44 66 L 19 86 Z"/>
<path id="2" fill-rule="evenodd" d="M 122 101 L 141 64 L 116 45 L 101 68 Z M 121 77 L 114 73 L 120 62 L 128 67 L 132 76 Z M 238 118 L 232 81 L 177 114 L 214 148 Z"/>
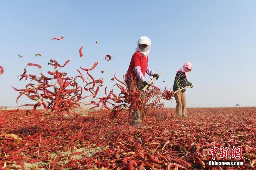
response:
<path id="1" fill-rule="evenodd" d="M 26 95 L 29 99 L 36 101 L 36 104 L 26 104 L 20 106 L 33 106 L 33 112 L 38 119 L 39 117 L 38 113 L 36 112 L 36 108 L 41 105 L 48 114 L 57 114 L 61 119 L 64 113 L 78 116 L 78 113 L 70 113 L 70 110 L 80 108 L 82 100 L 91 96 L 83 96 L 83 89 L 85 91 L 89 91 L 94 98 L 96 97 L 103 81 L 101 79 L 94 80 L 94 78 L 89 74 L 89 71 L 93 70 L 97 66 L 98 62 L 96 62 L 90 69 L 80 67 L 82 70 L 86 71 L 90 77 L 90 80 L 87 81 L 82 72 L 78 69 L 77 71 L 80 75 L 77 75 L 74 78 L 67 76 L 67 73 L 59 70 L 60 68 L 65 67 L 69 62 L 70 59 L 68 59 L 64 65 L 60 65 L 56 60 L 51 59 L 48 65 L 52 65 L 54 71 L 47 71 L 48 75 L 50 76 L 45 76 L 43 73 L 40 73 L 39 76 L 32 74 L 27 75 L 27 68 L 25 68 L 24 72 L 21 74 L 20 80 L 25 77 L 26 81 L 29 76 L 32 82 L 28 83 L 24 89 L 12 87 L 20 93 L 16 99 L 16 102 L 18 102 L 18 99 L 22 95 Z M 28 63 L 27 66 L 37 66 L 40 69 L 42 68 L 40 65 L 33 63 Z M 86 82 L 86 85 L 84 87 L 78 85 L 76 81 L 77 78 L 81 78 L 84 82 Z M 92 87 L 87 88 L 87 86 L 91 84 Z"/>

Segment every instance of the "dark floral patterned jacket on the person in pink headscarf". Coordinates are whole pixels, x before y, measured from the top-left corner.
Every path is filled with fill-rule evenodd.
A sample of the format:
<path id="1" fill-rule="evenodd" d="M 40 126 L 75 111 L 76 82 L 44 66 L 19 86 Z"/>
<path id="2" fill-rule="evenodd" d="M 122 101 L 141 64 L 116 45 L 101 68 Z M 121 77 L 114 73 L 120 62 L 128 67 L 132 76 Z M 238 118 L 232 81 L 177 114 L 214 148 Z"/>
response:
<path id="1" fill-rule="evenodd" d="M 173 91 L 178 90 L 178 88 L 185 88 L 187 86 L 191 86 L 192 83 L 186 79 L 185 72 L 178 71 L 175 76 Z M 185 92 L 186 90 L 182 90 L 181 92 Z"/>

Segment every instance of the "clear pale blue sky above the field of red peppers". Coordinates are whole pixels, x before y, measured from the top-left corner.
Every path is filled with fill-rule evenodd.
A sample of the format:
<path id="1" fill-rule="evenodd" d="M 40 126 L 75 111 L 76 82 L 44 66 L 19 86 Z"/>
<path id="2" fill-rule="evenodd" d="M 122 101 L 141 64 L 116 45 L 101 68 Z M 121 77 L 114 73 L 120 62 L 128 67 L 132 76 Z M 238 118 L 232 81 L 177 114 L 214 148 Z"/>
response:
<path id="1" fill-rule="evenodd" d="M 64 63 L 70 76 L 79 66 L 104 77 L 109 88 L 114 72 L 127 71 L 140 36 L 152 46 L 149 66 L 162 76 L 155 84 L 173 87 L 176 70 L 186 61 L 194 69 L 186 91 L 192 107 L 256 106 L 256 1 L 8 1 L 0 0 L 0 105 L 16 106 L 29 81 L 16 78 L 28 62 L 50 70 L 50 59 Z M 50 41 L 63 35 L 66 39 Z M 97 40 L 97 45 L 93 39 Z M 86 62 L 79 57 L 83 44 Z M 41 53 L 42 57 L 34 57 Z M 17 54 L 23 57 L 19 58 Z M 112 60 L 102 59 L 111 54 Z M 105 73 L 102 74 L 101 70 Z M 29 67 L 28 73 L 40 73 Z M 149 76 L 146 76 L 149 81 Z M 164 83 L 162 83 L 165 81 Z M 117 93 L 117 91 L 115 91 Z M 103 93 L 100 93 L 103 96 Z M 19 105 L 33 103 L 26 96 Z M 175 106 L 175 100 L 166 106 Z"/>

